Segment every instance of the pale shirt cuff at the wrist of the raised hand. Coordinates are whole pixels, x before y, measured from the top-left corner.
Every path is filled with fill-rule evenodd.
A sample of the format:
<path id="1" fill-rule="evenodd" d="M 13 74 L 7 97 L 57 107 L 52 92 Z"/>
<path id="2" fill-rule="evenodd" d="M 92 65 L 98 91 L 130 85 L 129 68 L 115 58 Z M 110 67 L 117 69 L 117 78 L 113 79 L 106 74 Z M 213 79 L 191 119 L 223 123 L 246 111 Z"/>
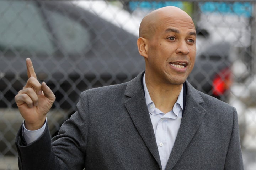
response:
<path id="1" fill-rule="evenodd" d="M 47 118 L 46 121 L 44 123 L 44 125 L 42 126 L 42 128 L 38 129 L 38 130 L 27 130 L 25 128 L 25 121 L 23 121 L 23 137 L 28 144 L 36 141 L 44 132 L 45 128 L 46 128 L 46 122 L 47 122 Z"/>

